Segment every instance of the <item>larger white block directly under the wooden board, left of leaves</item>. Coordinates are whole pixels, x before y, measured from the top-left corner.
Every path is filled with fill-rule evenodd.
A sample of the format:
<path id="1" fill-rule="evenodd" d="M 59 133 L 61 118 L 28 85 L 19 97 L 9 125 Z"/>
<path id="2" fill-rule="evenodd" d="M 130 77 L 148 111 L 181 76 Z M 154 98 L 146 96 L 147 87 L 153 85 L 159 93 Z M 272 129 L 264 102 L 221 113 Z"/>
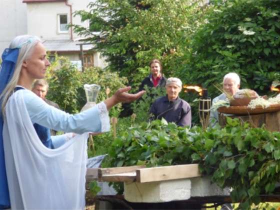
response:
<path id="1" fill-rule="evenodd" d="M 167 202 L 190 197 L 190 179 L 124 182 L 124 198 L 129 202 Z"/>

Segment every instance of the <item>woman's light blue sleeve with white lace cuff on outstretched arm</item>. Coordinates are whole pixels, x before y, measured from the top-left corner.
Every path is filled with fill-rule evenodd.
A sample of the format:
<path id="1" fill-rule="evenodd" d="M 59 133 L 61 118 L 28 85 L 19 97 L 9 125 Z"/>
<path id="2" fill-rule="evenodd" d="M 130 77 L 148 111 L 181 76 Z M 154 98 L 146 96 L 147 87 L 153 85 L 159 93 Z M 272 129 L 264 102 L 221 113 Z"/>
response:
<path id="1" fill-rule="evenodd" d="M 110 129 L 109 115 L 104 102 L 78 114 L 69 114 L 45 103 L 40 97 L 27 89 L 23 99 L 33 123 L 64 132 L 106 132 Z"/>

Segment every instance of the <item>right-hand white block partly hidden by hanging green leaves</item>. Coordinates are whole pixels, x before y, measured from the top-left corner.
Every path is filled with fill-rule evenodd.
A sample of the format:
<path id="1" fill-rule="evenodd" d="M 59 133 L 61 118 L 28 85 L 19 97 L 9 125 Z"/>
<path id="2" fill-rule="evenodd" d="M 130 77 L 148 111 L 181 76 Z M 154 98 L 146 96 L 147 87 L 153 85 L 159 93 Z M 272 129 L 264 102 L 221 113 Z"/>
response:
<path id="1" fill-rule="evenodd" d="M 210 177 L 195 177 L 190 178 L 192 197 L 198 196 L 214 196 L 214 195 L 229 195 L 230 189 L 228 187 L 222 189 L 215 183 L 211 183 Z"/>

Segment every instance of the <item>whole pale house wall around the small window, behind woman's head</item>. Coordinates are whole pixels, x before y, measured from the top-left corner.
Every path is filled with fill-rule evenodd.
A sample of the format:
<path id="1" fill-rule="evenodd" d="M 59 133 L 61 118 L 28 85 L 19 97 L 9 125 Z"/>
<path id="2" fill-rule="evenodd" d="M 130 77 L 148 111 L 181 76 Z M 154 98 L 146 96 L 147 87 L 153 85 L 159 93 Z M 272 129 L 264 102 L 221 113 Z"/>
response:
<path id="1" fill-rule="evenodd" d="M 72 13 L 76 10 L 86 10 L 87 4 L 93 0 L 68 0 L 72 5 Z M 23 3 L 22 0 L 0 0 L 0 54 L 8 47 L 10 41 L 17 35 L 36 35 L 41 39 L 70 39 L 70 29 L 67 33 L 58 32 L 57 14 L 67 14 L 70 22 L 70 7 L 65 2 Z M 80 16 L 72 15 L 73 24 L 88 26 L 88 22 L 81 22 Z M 73 33 L 73 39 L 79 36 Z M 59 53 L 70 60 L 80 60 L 79 51 Z M 94 52 L 94 66 L 105 67 L 106 63 Z"/>

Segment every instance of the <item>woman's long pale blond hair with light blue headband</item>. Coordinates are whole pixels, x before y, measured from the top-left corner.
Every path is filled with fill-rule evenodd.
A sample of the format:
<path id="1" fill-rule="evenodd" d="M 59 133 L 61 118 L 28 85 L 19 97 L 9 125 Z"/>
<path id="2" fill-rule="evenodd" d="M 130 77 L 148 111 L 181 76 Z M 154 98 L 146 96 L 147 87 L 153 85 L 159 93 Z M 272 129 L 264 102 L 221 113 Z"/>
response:
<path id="1" fill-rule="evenodd" d="M 18 82 L 22 63 L 30 56 L 34 46 L 38 42 L 40 42 L 40 39 L 37 36 L 19 35 L 16 36 L 9 45 L 9 48 L 19 48 L 19 52 L 18 52 L 18 57 L 16 60 L 13 75 L 10 81 L 7 83 L 4 90 L 2 91 L 2 93 L 0 94 L 0 100 L 2 101 L 1 109 L 3 115 L 5 113 L 4 110 L 5 110 L 5 105 L 7 103 L 7 100 L 9 96 L 13 93 L 14 88 Z M 1 69 L 1 70 L 8 70 L 8 69 Z"/>

